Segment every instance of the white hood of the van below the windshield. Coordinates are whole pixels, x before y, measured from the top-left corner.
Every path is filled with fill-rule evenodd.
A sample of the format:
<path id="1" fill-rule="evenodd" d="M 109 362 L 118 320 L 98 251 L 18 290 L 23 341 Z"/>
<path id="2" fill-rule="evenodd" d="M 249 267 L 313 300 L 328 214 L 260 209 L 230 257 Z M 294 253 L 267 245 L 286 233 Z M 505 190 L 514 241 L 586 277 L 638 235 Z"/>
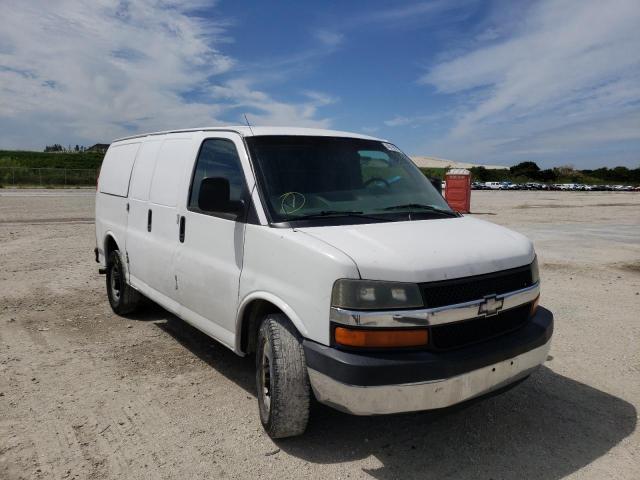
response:
<path id="1" fill-rule="evenodd" d="M 472 217 L 297 228 L 341 250 L 369 280 L 433 282 L 533 261 L 524 235 Z"/>

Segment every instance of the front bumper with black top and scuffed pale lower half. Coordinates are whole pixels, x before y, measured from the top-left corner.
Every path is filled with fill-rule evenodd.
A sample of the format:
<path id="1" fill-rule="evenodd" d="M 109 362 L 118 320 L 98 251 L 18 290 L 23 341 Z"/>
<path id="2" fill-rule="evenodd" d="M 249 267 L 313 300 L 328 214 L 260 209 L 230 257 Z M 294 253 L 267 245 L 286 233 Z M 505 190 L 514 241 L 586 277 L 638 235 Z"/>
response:
<path id="1" fill-rule="evenodd" d="M 318 401 L 354 415 L 444 408 L 501 389 L 544 363 L 553 315 L 539 308 L 526 326 L 450 352 L 354 353 L 305 340 Z"/>

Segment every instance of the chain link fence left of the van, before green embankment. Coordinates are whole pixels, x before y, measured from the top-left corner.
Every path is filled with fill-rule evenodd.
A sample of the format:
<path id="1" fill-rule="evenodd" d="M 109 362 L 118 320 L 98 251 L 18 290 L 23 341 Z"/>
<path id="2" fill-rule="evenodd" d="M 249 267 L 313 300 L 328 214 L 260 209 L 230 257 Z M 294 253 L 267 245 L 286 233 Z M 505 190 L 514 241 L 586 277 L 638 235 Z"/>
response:
<path id="1" fill-rule="evenodd" d="M 0 186 L 93 186 L 98 170 L 92 168 L 0 167 Z"/>

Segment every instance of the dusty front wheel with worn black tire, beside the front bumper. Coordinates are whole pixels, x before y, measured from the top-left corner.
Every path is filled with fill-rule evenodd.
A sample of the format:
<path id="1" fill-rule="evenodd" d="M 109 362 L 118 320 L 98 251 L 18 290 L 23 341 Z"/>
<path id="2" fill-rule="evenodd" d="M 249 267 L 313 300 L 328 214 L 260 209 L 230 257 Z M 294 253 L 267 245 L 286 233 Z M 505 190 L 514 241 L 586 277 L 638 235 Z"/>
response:
<path id="1" fill-rule="evenodd" d="M 265 317 L 258 332 L 256 385 L 260 421 L 271 438 L 301 435 L 311 389 L 300 335 L 282 314 Z"/>

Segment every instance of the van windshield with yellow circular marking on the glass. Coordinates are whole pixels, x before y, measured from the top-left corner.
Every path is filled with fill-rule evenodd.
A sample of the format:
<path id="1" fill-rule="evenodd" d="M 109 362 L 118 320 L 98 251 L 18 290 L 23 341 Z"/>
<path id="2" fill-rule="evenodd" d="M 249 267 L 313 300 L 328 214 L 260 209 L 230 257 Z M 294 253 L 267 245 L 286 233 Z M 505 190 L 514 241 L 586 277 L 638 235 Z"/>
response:
<path id="1" fill-rule="evenodd" d="M 274 135 L 249 137 L 247 144 L 273 222 L 455 216 L 418 167 L 390 143 Z"/>

